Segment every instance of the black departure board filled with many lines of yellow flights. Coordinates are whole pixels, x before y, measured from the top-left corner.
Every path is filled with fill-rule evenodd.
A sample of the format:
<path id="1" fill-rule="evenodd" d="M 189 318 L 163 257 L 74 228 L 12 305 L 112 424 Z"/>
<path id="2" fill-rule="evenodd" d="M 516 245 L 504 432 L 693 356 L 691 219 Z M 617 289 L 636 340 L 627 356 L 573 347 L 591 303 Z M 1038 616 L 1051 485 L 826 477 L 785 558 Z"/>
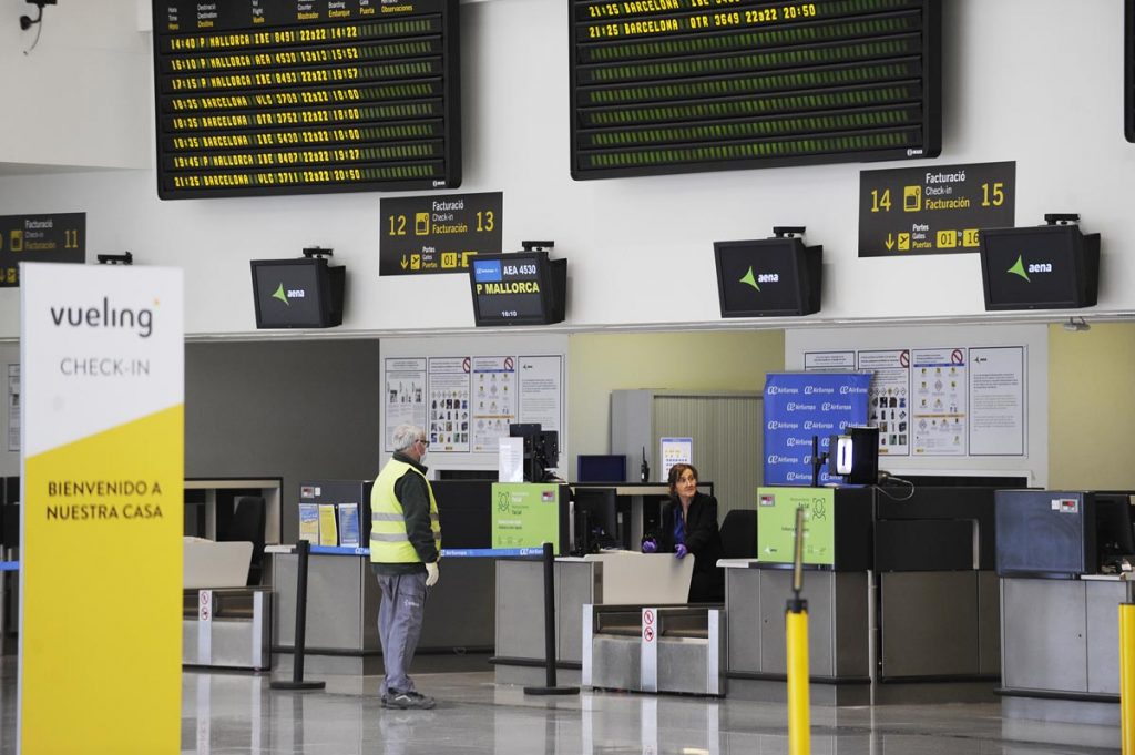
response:
<path id="1" fill-rule="evenodd" d="M 461 185 L 457 0 L 153 0 L 161 199 Z"/>

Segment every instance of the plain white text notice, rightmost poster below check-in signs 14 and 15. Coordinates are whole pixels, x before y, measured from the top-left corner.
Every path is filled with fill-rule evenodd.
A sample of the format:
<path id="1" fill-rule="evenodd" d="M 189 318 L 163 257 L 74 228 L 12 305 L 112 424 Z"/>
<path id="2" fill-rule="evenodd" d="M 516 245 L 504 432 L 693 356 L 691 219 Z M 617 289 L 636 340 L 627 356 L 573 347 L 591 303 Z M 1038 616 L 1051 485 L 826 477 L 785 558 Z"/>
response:
<path id="1" fill-rule="evenodd" d="M 969 453 L 1025 454 L 1024 346 L 969 350 Z"/>

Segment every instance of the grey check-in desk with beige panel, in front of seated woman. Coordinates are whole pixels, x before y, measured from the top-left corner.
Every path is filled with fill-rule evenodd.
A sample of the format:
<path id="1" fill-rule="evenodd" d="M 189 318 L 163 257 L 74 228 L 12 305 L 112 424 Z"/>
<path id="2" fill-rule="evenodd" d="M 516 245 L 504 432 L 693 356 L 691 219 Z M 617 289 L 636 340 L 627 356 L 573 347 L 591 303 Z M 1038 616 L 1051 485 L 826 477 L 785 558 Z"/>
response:
<path id="1" fill-rule="evenodd" d="M 611 551 L 556 559 L 554 567 L 556 664 L 570 683 L 580 681 L 583 606 L 684 604 L 693 559 L 672 554 Z M 501 683 L 545 679 L 544 562 L 502 559 L 496 563 L 496 655 Z"/>

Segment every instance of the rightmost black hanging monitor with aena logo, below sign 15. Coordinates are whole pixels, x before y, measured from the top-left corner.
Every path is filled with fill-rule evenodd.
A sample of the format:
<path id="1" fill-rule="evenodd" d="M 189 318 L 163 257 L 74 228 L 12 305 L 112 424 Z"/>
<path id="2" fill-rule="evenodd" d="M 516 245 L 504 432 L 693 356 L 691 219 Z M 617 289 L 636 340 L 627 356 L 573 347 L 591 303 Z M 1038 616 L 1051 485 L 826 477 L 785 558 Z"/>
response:
<path id="1" fill-rule="evenodd" d="M 1077 309 L 1096 302 L 1100 234 L 1079 226 L 983 228 L 986 310 Z"/>

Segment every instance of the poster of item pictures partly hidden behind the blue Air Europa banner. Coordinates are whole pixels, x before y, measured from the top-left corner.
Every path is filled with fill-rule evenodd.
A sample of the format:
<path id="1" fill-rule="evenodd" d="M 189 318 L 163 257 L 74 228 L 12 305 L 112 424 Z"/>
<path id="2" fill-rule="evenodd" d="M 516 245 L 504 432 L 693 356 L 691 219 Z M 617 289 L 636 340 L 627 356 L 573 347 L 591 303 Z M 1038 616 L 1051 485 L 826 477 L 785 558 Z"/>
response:
<path id="1" fill-rule="evenodd" d="M 859 369 L 872 372 L 867 425 L 878 428 L 878 453 L 910 454 L 910 350 L 860 351 Z"/>

